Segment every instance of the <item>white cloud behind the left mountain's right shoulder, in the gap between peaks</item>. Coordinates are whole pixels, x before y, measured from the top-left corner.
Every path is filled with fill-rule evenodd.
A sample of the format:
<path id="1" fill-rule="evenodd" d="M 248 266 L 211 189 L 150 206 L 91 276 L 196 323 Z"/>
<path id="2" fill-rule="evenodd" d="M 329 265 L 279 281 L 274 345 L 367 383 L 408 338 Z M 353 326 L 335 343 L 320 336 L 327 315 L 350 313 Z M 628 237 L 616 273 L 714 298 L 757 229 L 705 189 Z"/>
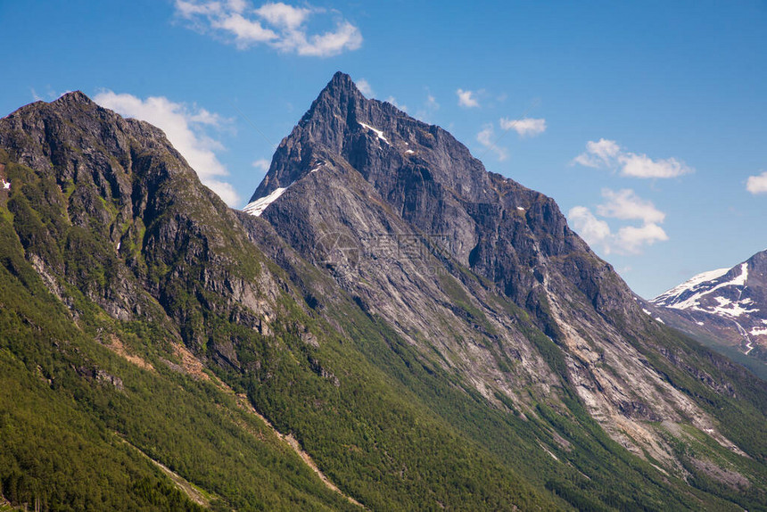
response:
<path id="1" fill-rule="evenodd" d="M 227 168 L 216 156 L 224 146 L 205 134 L 205 128 L 222 128 L 228 120 L 219 114 L 197 106 L 174 103 L 162 96 L 150 96 L 145 100 L 134 95 L 103 91 L 94 97 L 95 103 L 120 113 L 125 117 L 147 121 L 161 128 L 178 153 L 197 172 L 200 181 L 219 194 L 224 202 L 236 206 L 239 195 L 234 186 L 220 177 L 228 175 Z"/>

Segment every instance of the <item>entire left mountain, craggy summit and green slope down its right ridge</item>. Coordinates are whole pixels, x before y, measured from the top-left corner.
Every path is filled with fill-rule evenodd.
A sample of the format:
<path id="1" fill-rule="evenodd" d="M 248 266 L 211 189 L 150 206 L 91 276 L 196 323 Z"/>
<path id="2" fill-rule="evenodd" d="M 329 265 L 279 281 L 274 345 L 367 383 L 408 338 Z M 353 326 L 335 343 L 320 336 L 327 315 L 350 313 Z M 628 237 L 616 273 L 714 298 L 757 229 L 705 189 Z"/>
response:
<path id="1" fill-rule="evenodd" d="M 42 372 L 21 404 L 47 393 L 97 425 L 88 442 L 128 450 L 122 438 L 139 450 L 153 480 L 113 465 L 109 474 L 126 482 L 114 488 L 115 508 L 152 508 L 147 500 L 161 484 L 172 494 L 141 451 L 210 493 L 214 508 L 357 508 L 241 408 L 243 397 L 368 508 L 557 508 L 548 491 L 455 432 L 312 318 L 235 212 L 200 185 L 157 128 L 72 93 L 0 120 L 0 148 L 12 183 L 0 198 L 3 261 L 15 286 L 0 301 L 26 333 L 0 336 L 4 365 L 15 365 L 4 375 L 37 382 Z M 50 334 L 56 323 L 78 335 Z M 71 351 L 62 348 L 69 343 Z M 33 414 L 26 405 L 4 408 Z M 9 432 L 20 421 L 7 422 Z M 58 415 L 41 421 L 62 429 Z M 28 463 L 25 454 L 52 445 L 52 435 L 4 436 L 12 450 L 0 465 L 9 482 L 3 493 L 15 503 L 80 508 L 102 481 L 82 475 L 73 494 L 56 498 L 47 483 L 65 486 L 70 467 Z M 136 485 L 148 485 L 150 498 L 121 502 Z"/>

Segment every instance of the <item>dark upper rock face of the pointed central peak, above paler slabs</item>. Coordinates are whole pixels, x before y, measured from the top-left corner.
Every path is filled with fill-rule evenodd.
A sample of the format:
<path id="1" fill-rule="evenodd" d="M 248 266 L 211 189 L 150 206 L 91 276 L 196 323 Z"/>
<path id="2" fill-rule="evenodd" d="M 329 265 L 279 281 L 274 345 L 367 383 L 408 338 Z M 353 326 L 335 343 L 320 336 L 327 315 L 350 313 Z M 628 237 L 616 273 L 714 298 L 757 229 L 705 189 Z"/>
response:
<path id="1" fill-rule="evenodd" d="M 637 312 L 620 278 L 567 227 L 556 202 L 487 172 L 443 129 L 390 103 L 367 100 L 342 73 L 279 145 L 252 201 L 332 166 L 354 169 L 400 219 L 439 237 L 450 257 L 491 279 L 521 306 L 535 308 L 540 285 L 555 272 L 601 314 Z M 278 209 L 270 208 L 266 218 Z M 312 235 L 294 230 L 291 240 L 316 244 Z"/>

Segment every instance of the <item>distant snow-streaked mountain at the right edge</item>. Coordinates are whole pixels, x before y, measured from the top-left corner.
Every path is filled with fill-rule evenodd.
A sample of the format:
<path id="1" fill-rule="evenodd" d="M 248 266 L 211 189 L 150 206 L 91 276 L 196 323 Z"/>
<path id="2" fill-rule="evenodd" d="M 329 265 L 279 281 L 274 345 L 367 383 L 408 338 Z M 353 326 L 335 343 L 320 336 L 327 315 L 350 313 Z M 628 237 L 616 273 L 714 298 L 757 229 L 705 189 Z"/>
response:
<path id="1" fill-rule="evenodd" d="M 692 277 L 650 302 L 664 321 L 767 364 L 767 251 Z"/>

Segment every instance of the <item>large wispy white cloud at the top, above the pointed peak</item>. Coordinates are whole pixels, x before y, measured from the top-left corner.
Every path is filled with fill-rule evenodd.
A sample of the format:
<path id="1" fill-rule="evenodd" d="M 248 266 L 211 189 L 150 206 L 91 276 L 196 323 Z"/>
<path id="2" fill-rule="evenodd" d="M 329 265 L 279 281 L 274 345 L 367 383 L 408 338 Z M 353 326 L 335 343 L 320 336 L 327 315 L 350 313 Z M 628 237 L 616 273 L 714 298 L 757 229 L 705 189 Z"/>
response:
<path id="1" fill-rule="evenodd" d="M 342 19 L 332 30 L 309 34 L 309 19 L 326 12 L 310 6 L 270 2 L 253 9 L 246 0 L 176 0 L 175 5 L 177 16 L 191 28 L 212 32 L 240 49 L 266 44 L 289 54 L 330 57 L 362 45 L 359 29 Z"/>

